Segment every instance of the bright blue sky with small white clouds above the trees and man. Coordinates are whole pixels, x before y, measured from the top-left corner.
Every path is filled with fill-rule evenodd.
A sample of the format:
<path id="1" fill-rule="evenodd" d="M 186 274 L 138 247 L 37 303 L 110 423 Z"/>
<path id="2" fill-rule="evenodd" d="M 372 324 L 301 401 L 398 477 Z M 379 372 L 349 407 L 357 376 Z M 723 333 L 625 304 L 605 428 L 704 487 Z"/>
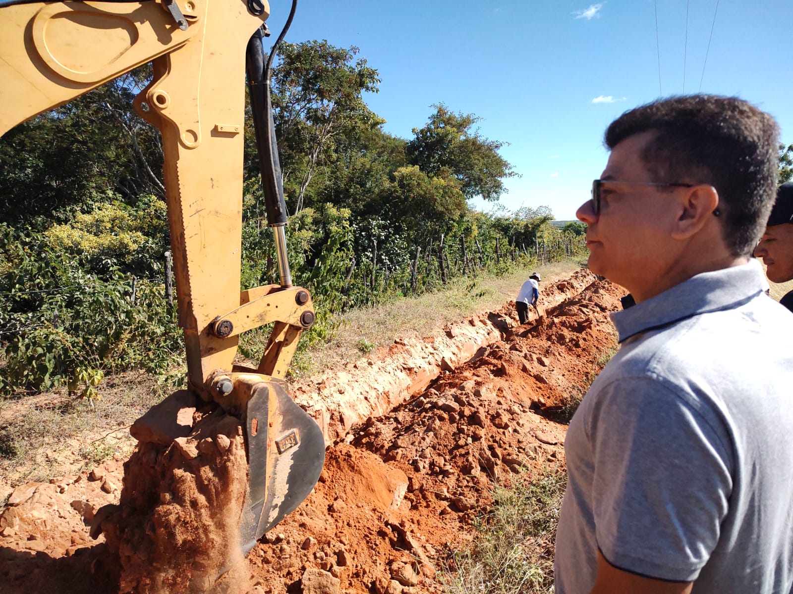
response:
<path id="1" fill-rule="evenodd" d="M 290 2 L 270 1 L 276 36 Z M 434 103 L 480 116 L 521 175 L 500 204 L 573 219 L 605 166 L 609 122 L 700 80 L 772 113 L 793 143 L 791 23 L 791 0 L 300 0 L 286 40 L 360 48 L 382 79 L 366 101 L 393 135 L 410 138 Z"/>

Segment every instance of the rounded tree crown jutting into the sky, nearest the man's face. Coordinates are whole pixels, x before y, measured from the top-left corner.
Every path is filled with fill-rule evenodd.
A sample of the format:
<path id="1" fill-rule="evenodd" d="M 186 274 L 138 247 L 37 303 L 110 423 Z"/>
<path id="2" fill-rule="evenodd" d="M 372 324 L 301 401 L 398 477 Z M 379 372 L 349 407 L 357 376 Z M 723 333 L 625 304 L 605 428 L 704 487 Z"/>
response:
<path id="1" fill-rule="evenodd" d="M 460 182 L 466 198 L 482 196 L 497 200 L 506 192 L 504 180 L 517 173 L 498 153 L 505 143 L 488 140 L 473 125 L 481 120 L 473 113 L 454 113 L 442 103 L 423 128 L 413 128 L 408 141 L 408 162 L 429 176 L 451 175 Z M 447 172 L 447 173 L 443 173 Z"/>

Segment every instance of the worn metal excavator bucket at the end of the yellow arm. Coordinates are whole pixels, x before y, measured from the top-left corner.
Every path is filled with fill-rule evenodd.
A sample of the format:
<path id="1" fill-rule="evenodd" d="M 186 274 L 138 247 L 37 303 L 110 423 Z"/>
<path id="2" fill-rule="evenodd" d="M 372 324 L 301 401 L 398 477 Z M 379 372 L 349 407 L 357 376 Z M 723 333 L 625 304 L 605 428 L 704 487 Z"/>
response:
<path id="1" fill-rule="evenodd" d="M 248 491 L 239 537 L 243 554 L 308 497 L 320 478 L 325 441 L 281 383 L 251 390 L 244 414 Z"/>

